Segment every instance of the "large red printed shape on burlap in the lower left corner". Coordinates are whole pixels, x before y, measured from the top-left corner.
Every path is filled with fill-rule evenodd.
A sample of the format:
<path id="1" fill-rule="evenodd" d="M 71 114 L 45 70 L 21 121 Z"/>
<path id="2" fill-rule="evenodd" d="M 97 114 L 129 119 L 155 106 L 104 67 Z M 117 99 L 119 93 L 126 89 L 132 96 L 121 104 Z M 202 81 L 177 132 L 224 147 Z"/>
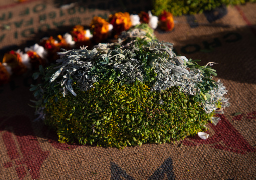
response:
<path id="1" fill-rule="evenodd" d="M 38 179 L 40 167 L 50 152 L 41 149 L 29 118 L 15 116 L 9 119 L 2 118 L 1 121 L 3 123 L 0 126 L 0 132 L 6 131 L 2 134 L 2 138 L 10 158 L 10 161 L 3 166 L 6 168 L 14 166 L 19 179 L 23 179 L 27 171 L 33 179 Z"/>

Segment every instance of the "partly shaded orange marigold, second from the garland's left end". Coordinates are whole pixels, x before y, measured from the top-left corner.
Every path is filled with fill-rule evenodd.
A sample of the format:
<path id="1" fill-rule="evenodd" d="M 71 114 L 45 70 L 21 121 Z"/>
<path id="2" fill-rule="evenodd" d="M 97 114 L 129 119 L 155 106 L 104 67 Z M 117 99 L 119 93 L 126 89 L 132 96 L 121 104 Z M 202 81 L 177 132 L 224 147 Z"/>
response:
<path id="1" fill-rule="evenodd" d="M 22 63 L 20 54 L 13 50 L 4 55 L 3 63 L 8 64 L 12 68 L 12 72 L 16 75 L 23 74 L 27 71 L 27 67 Z"/>

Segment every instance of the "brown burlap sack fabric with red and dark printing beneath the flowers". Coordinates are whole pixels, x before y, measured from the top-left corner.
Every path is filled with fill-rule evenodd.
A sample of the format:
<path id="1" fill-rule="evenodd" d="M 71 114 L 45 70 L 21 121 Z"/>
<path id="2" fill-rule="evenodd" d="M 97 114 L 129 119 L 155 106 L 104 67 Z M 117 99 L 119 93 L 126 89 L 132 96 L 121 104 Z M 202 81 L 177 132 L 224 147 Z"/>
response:
<path id="1" fill-rule="evenodd" d="M 63 3 L 63 2 L 62 2 Z M 64 3 L 71 3 L 66 1 Z M 0 1 L 0 56 L 35 44 L 44 36 L 88 26 L 93 16 L 112 11 L 138 13 L 147 1 Z M 230 107 L 207 140 L 141 147 L 104 148 L 60 144 L 28 106 L 31 73 L 0 86 L 0 179 L 255 179 L 256 177 L 256 4 L 220 7 L 175 17 L 172 32 L 155 31 L 173 42 L 177 54 L 217 62 L 217 79 L 226 86 Z M 235 113 L 241 114 L 234 116 Z"/>

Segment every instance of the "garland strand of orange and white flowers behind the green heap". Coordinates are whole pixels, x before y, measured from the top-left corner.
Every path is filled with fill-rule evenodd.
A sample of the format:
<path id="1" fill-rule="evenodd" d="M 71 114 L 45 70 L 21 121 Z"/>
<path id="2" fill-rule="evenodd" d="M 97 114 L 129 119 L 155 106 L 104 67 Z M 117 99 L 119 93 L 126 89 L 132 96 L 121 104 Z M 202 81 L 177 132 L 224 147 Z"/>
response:
<path id="1" fill-rule="evenodd" d="M 21 75 L 27 70 L 38 69 L 39 65 L 45 67 L 49 63 L 54 63 L 59 58 L 57 52 L 62 48 L 70 50 L 104 42 L 111 36 L 117 38 L 122 31 L 127 31 L 141 23 L 147 23 L 152 29 L 159 27 L 164 31 L 171 31 L 174 28 L 173 16 L 166 11 L 159 17 L 152 15 L 150 11 L 140 12 L 138 15 L 118 12 L 110 15 L 108 21 L 101 17 L 94 17 L 90 30 L 76 25 L 70 33 L 64 36 L 58 35 L 57 39 L 45 37 L 39 44 L 26 47 L 25 52 L 12 50 L 6 53 L 0 63 L 0 85 L 7 84 L 12 74 Z"/>

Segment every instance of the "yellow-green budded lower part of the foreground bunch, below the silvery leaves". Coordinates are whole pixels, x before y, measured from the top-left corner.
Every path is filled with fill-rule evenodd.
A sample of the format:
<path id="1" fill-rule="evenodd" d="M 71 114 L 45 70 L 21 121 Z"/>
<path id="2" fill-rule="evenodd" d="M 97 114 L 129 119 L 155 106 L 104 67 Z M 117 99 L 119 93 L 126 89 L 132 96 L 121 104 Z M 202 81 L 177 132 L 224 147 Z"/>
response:
<path id="1" fill-rule="evenodd" d="M 56 129 L 60 142 L 111 147 L 165 143 L 205 129 L 213 116 L 201 102 L 177 87 L 151 92 L 143 83 L 96 82 L 77 96 L 61 93 L 45 104 L 46 124 Z"/>

